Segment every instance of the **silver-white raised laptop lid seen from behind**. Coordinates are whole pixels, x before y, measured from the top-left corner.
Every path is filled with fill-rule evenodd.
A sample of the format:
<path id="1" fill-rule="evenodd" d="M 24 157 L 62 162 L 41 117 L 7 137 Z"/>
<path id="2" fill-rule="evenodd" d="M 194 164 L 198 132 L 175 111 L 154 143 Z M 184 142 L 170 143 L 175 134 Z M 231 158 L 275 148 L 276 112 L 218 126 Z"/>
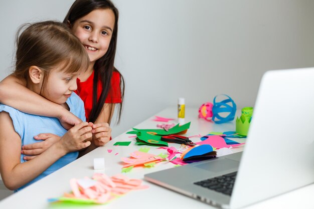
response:
<path id="1" fill-rule="evenodd" d="M 266 72 L 230 207 L 314 182 L 313 130 L 314 68 Z"/>

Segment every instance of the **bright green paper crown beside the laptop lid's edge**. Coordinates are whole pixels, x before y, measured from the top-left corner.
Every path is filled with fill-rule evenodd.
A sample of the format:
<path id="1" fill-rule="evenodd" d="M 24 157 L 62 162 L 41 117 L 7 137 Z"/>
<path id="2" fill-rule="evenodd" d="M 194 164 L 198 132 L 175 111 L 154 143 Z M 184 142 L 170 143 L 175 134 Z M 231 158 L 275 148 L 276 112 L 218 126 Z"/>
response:
<path id="1" fill-rule="evenodd" d="M 236 119 L 236 132 L 246 136 L 252 120 L 253 107 L 244 107 L 241 110 L 241 117 Z"/>

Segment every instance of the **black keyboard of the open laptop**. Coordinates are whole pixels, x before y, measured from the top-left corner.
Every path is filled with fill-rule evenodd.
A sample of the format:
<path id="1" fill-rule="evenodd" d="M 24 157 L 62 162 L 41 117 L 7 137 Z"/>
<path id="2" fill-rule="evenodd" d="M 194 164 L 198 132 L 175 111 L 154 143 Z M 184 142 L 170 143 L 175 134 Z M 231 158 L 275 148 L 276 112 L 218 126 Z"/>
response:
<path id="1" fill-rule="evenodd" d="M 232 172 L 215 178 L 198 181 L 194 184 L 231 196 L 236 176 L 237 172 Z"/>

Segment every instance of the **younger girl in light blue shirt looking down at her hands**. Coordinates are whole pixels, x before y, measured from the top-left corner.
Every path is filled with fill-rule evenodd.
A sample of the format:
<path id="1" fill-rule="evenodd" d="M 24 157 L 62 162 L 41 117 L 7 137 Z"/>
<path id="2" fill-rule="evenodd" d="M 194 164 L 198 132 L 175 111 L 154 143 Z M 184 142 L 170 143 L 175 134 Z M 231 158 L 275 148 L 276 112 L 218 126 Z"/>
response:
<path id="1" fill-rule="evenodd" d="M 28 89 L 82 121 L 84 104 L 73 91 L 77 89 L 78 75 L 88 65 L 84 47 L 62 23 L 32 24 L 17 39 L 14 75 L 25 79 Z M 0 124 L 0 172 L 12 190 L 20 190 L 74 161 L 78 151 L 87 148 L 107 128 L 104 123 L 93 129 L 92 123 L 81 122 L 67 131 L 57 118 L 27 114 L 4 104 L 0 104 Z M 60 137 L 41 155 L 24 160 L 21 147 L 34 143 L 33 136 L 45 132 Z"/>

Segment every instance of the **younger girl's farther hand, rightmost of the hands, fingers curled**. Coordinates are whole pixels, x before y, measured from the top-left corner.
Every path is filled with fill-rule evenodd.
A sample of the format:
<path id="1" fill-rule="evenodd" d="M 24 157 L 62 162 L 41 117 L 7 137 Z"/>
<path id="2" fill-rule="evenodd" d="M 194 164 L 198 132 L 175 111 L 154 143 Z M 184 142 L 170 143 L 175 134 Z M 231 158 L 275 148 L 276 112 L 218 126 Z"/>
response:
<path id="1" fill-rule="evenodd" d="M 96 146 L 103 146 L 110 140 L 111 128 L 108 123 L 96 123 L 92 128 L 93 142 Z"/>

